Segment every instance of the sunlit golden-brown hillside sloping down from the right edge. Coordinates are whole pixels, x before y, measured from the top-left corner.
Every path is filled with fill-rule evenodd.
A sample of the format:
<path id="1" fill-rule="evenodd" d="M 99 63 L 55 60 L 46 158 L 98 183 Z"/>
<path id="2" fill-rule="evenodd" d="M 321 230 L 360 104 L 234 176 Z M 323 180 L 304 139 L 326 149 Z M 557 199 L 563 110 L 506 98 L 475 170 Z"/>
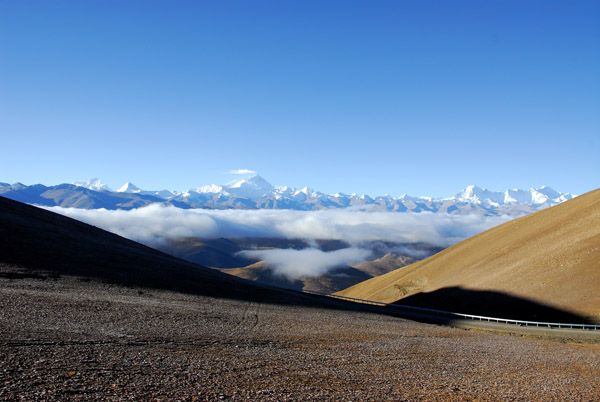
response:
<path id="1" fill-rule="evenodd" d="M 450 286 L 506 292 L 600 321 L 600 189 L 338 294 L 391 303 Z"/>

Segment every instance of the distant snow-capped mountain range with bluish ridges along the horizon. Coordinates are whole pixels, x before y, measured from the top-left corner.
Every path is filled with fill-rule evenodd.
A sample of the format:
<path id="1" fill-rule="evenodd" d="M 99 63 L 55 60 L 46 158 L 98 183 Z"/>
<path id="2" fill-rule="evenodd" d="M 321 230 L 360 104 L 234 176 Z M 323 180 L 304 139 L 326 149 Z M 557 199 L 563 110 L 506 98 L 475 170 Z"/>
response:
<path id="1" fill-rule="evenodd" d="M 358 194 L 325 194 L 308 187 L 273 186 L 259 175 L 225 185 L 207 185 L 184 192 L 142 190 L 127 182 L 111 190 L 99 179 L 46 187 L 41 184 L 0 183 L 0 195 L 40 205 L 76 208 L 131 209 L 151 203 L 180 208 L 293 209 L 314 211 L 351 208 L 363 211 L 443 212 L 449 214 L 520 215 L 534 212 L 575 197 L 550 187 L 529 190 L 490 191 L 468 186 L 449 198 L 370 197 Z"/>

